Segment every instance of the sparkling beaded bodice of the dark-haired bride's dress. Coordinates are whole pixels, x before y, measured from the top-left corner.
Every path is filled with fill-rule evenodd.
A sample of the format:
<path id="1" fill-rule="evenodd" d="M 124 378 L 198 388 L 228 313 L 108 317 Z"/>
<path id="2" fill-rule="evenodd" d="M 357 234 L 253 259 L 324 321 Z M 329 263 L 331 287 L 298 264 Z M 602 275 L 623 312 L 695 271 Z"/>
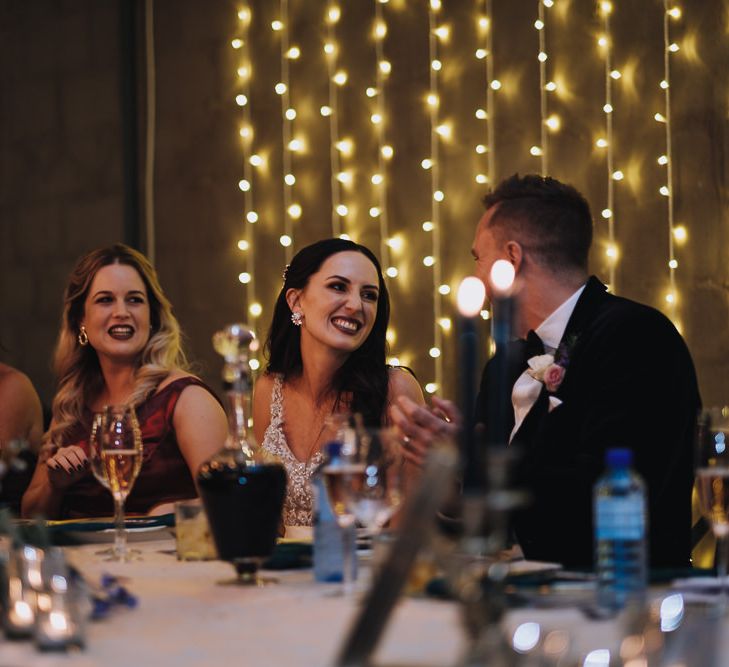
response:
<path id="1" fill-rule="evenodd" d="M 284 500 L 283 522 L 286 526 L 312 524 L 311 473 L 322 462 L 321 452 L 307 461 L 299 461 L 289 449 L 283 432 L 283 378 L 276 375 L 271 392 L 271 422 L 263 435 L 262 447 L 278 457 L 286 468 L 288 484 Z"/>

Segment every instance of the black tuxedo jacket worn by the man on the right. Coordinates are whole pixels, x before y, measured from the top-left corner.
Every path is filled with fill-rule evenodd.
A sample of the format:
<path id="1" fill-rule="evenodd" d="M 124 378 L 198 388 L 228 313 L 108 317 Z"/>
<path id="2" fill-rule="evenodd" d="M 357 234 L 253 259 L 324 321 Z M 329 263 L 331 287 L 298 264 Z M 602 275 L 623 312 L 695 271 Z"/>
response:
<path id="1" fill-rule="evenodd" d="M 648 306 L 608 294 L 591 277 L 575 306 L 562 342 L 568 348 L 564 379 L 548 410 L 546 388 L 514 436 L 522 456 L 514 483 L 530 504 L 514 517 L 527 558 L 568 567 L 593 564 L 592 487 L 603 472 L 605 451 L 628 447 L 648 489 L 653 567 L 682 567 L 691 551 L 692 440 L 700 406 L 696 373 L 673 324 Z M 511 406 L 514 382 L 526 368 L 509 350 Z M 496 358 L 481 380 L 476 420 L 486 423 L 493 400 Z M 502 383 L 503 384 L 503 383 Z M 514 425 L 507 410 L 500 434 Z"/>

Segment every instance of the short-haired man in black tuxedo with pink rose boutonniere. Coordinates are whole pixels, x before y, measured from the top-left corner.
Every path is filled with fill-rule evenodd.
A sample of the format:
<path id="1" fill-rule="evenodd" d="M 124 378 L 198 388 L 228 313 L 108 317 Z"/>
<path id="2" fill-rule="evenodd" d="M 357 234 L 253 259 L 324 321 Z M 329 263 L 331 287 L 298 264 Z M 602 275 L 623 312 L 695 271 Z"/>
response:
<path id="1" fill-rule="evenodd" d="M 657 310 L 589 276 L 592 218 L 573 187 L 513 176 L 484 204 L 471 250 L 476 274 L 488 286 L 496 260 L 513 265 L 516 333 L 528 340 L 510 343 L 506 386 L 495 381 L 498 360 L 486 365 L 476 417 L 485 422 L 508 393 L 501 399 L 513 410 L 498 435 L 522 451 L 514 484 L 531 502 L 514 529 L 525 556 L 592 566 L 592 487 L 605 451 L 628 447 L 647 487 L 651 566 L 688 566 L 700 398 L 681 336 Z M 455 416 L 447 402 L 437 405 Z M 407 401 L 392 413 L 409 457 L 421 460 L 437 420 Z"/>

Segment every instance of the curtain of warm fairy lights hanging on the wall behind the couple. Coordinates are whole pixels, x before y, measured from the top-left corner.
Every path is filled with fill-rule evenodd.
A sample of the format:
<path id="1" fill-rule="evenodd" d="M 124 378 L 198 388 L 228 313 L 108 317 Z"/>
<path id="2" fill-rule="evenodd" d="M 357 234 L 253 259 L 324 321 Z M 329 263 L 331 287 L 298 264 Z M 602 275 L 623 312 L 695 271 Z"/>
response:
<path id="1" fill-rule="evenodd" d="M 646 123 L 665 133 L 662 197 L 638 220 L 621 202 L 643 196 L 649 179 L 619 139 L 634 124 L 640 87 L 652 84 L 631 71 L 634 49 L 620 42 L 632 3 L 537 0 L 520 5 L 517 20 L 503 0 L 241 2 L 230 36 L 238 279 L 259 333 L 293 253 L 324 236 L 349 237 L 378 252 L 388 280 L 389 361 L 412 366 L 428 391 L 452 393 L 454 287 L 472 270 L 480 197 L 515 171 L 585 192 L 596 265 L 613 291 L 630 287 L 618 269 L 627 270 L 631 230 L 652 225 L 658 237 L 667 225 L 668 286 L 657 276 L 652 300 L 678 322 L 676 247 L 687 231 L 674 213 L 670 66 L 681 57 L 674 32 L 686 17 L 672 0 L 648 4 L 661 22 L 654 56 L 663 104 Z M 582 35 L 595 41 L 576 62 L 566 49 Z"/>

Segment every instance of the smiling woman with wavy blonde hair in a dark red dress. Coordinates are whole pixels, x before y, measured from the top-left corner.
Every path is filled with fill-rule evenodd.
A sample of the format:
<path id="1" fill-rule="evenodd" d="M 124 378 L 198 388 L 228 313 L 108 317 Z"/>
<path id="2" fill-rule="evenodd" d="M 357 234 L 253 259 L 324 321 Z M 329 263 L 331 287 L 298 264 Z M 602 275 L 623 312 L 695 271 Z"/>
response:
<path id="1" fill-rule="evenodd" d="M 197 495 L 200 464 L 225 441 L 225 413 L 186 372 L 180 327 L 144 255 L 122 244 L 93 250 L 71 273 L 55 353 L 59 381 L 23 516 L 106 516 L 111 494 L 89 468 L 94 412 L 134 405 L 144 444 L 126 508 L 170 511 Z"/>

